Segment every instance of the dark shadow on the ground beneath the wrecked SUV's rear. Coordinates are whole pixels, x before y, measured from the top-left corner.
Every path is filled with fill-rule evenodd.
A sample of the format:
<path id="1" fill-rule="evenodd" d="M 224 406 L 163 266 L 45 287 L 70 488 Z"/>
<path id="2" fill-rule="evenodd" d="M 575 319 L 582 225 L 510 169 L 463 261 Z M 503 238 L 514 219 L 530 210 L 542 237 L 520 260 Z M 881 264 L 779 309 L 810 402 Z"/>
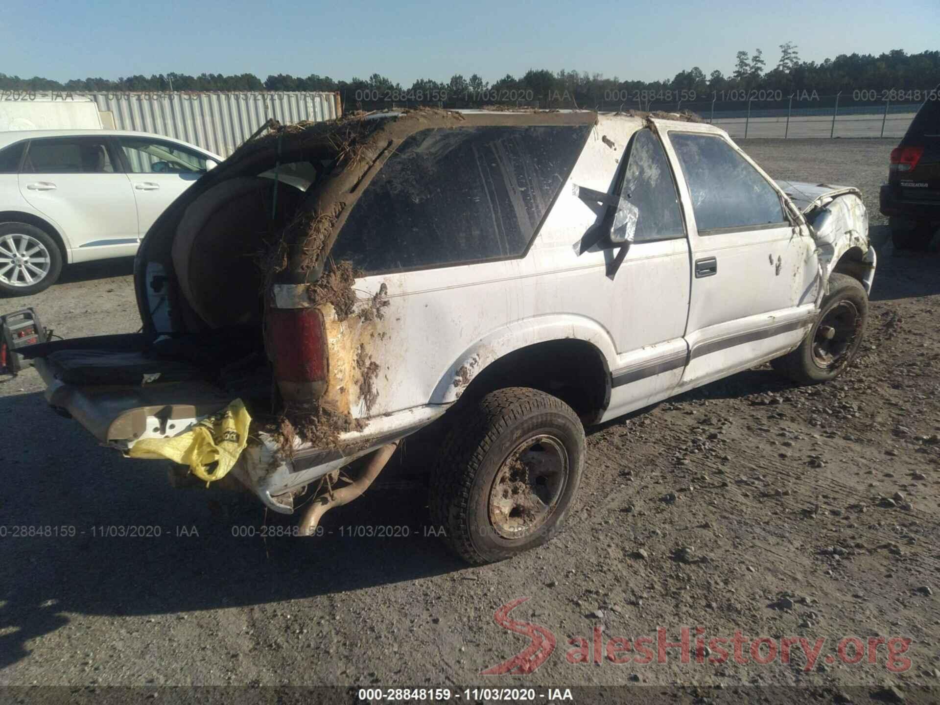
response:
<path id="1" fill-rule="evenodd" d="M 39 393 L 0 397 L 0 418 L 17 438 L 0 498 L 0 668 L 70 615 L 274 603 L 466 568 L 434 535 L 406 464 L 327 514 L 325 535 L 301 539 L 283 535 L 295 518 L 251 497 L 175 490 L 163 463 L 95 446 Z"/>

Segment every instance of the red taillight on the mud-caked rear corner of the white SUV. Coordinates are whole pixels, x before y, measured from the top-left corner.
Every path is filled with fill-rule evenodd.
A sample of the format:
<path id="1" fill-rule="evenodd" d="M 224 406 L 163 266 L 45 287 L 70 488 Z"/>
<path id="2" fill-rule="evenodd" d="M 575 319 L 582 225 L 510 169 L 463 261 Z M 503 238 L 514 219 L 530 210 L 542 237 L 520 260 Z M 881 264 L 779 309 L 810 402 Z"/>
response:
<path id="1" fill-rule="evenodd" d="M 329 357 L 317 308 L 269 308 L 268 349 L 274 379 L 290 401 L 310 401 L 326 390 Z"/>

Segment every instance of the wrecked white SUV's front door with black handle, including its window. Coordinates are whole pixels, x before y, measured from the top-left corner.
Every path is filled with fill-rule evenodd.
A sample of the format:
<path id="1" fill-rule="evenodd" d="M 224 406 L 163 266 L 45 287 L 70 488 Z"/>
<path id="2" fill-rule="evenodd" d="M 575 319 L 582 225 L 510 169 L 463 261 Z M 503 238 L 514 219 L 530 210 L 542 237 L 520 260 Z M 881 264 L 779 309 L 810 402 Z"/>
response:
<path id="1" fill-rule="evenodd" d="M 745 169 L 746 180 L 713 173 L 703 186 L 703 167 L 693 163 L 688 151 L 681 158 L 674 144 L 679 142 L 676 133 L 696 133 L 695 126 L 667 132 L 667 152 L 682 173 L 678 181 L 693 258 L 685 332 L 689 363 L 682 375 L 682 387 L 705 384 L 796 347 L 814 315 L 819 271 L 815 245 L 801 227 L 789 222 L 733 226 L 734 218 L 756 219 L 750 211 L 760 208 L 760 204 L 755 206 L 748 197 L 765 199 L 764 207 L 770 209 L 770 202 L 780 196 L 771 180 L 732 143 L 706 130 L 699 129 L 698 134 L 721 140 L 727 145 L 720 148 L 722 153 L 740 155 L 734 157 L 739 161 L 728 168 Z M 686 147 L 680 145 L 680 149 Z M 711 155 L 713 152 L 706 149 L 701 156 L 704 159 Z M 715 160 L 713 168 L 721 164 Z M 707 189 L 726 186 L 740 188 L 740 198 L 729 197 L 722 202 L 719 195 L 709 211 L 706 201 L 711 196 Z M 735 202 L 742 204 L 737 211 Z M 779 212 L 782 221 L 782 206 Z M 729 227 L 700 227 L 716 223 Z"/>

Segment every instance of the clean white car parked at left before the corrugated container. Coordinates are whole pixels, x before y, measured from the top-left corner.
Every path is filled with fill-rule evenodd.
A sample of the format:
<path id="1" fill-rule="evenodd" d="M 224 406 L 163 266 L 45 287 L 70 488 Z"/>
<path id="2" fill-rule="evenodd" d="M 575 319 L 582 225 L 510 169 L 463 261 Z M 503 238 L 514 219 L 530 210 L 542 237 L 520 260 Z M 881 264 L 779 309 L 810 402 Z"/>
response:
<path id="1" fill-rule="evenodd" d="M 55 283 L 63 264 L 127 257 L 222 157 L 158 134 L 0 133 L 0 293 Z"/>

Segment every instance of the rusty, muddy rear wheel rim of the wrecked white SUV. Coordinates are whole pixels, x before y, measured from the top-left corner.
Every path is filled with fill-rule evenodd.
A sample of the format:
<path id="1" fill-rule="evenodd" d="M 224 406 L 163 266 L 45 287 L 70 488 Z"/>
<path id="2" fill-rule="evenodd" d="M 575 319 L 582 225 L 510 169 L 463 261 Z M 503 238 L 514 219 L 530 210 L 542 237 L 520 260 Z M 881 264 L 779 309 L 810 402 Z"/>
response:
<path id="1" fill-rule="evenodd" d="M 564 444 L 540 434 L 516 446 L 493 478 L 487 503 L 490 524 L 503 539 L 523 539 L 555 513 L 571 463 Z"/>

